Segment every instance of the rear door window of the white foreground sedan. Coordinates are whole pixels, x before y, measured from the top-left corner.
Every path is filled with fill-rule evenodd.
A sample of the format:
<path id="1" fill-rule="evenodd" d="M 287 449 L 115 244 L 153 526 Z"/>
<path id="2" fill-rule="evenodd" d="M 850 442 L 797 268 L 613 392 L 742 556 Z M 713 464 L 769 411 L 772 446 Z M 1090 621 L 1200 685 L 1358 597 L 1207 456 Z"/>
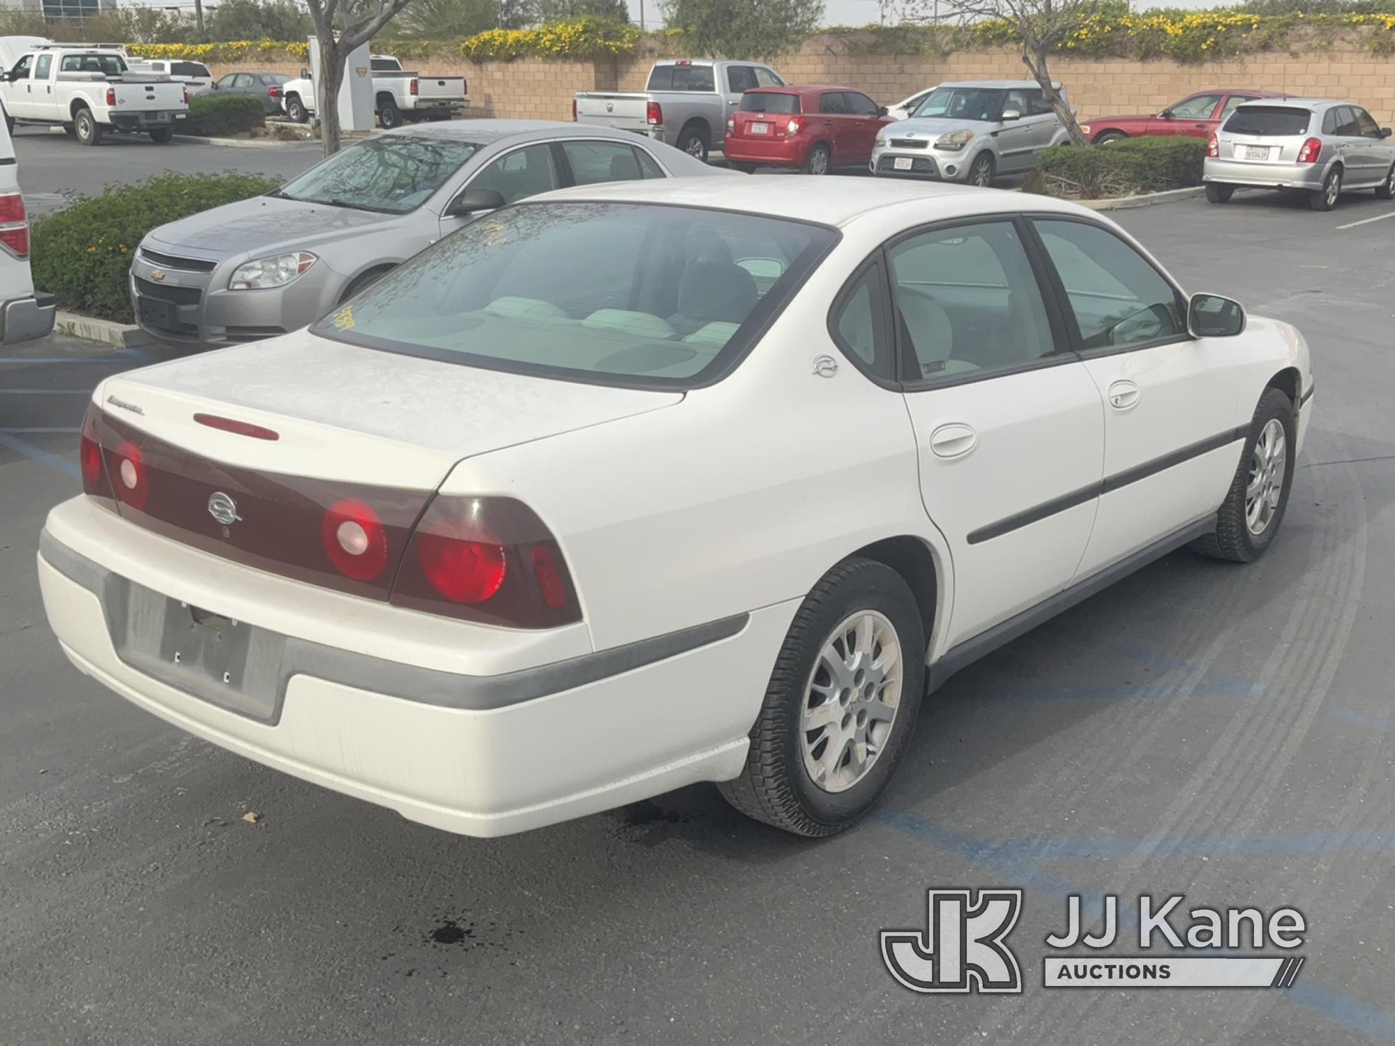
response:
<path id="1" fill-rule="evenodd" d="M 901 339 L 910 342 L 922 379 L 1007 370 L 1055 351 L 1041 287 L 1013 222 L 921 233 L 887 257 Z"/>

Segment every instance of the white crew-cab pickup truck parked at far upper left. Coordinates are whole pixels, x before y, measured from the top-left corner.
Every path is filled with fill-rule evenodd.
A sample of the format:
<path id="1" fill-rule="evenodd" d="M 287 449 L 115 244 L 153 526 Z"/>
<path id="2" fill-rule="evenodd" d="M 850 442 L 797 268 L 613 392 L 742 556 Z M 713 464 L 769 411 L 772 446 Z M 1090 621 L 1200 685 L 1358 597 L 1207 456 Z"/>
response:
<path id="1" fill-rule="evenodd" d="M 82 145 L 106 131 L 144 131 L 167 142 L 188 119 L 188 88 L 130 70 L 119 50 L 49 45 L 22 54 L 0 77 L 6 124 L 63 127 Z"/>

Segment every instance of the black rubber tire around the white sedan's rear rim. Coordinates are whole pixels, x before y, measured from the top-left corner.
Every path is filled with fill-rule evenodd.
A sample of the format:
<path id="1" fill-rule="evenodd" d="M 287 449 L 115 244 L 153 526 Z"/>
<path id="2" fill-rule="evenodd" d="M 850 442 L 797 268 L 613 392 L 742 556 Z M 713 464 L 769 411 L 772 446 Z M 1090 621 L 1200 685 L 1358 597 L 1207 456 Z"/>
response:
<path id="1" fill-rule="evenodd" d="M 866 774 L 844 791 L 824 791 L 805 768 L 801 715 L 809 700 L 809 686 L 820 671 L 820 650 L 841 622 L 864 609 L 884 616 L 901 644 L 901 696 L 884 746 Z M 925 689 L 923 650 L 921 612 L 896 570 L 862 558 L 834 566 L 813 587 L 790 625 L 760 714 L 751 728 L 746 766 L 739 777 L 718 785 L 723 798 L 746 816 L 797 835 L 833 835 L 850 827 L 886 788 L 915 731 Z M 855 707 L 855 702 L 850 706 L 845 699 L 840 703 Z"/>

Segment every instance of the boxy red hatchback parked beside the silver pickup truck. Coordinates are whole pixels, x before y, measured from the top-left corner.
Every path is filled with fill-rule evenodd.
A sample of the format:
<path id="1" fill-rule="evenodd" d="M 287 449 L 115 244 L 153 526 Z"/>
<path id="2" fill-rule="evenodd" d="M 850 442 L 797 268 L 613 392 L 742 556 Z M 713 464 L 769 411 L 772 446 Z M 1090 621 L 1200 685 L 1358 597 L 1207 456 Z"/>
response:
<path id="1" fill-rule="evenodd" d="M 727 120 L 723 153 L 737 170 L 799 167 L 827 174 L 866 167 L 876 132 L 894 123 L 861 91 L 844 86 L 755 88 Z"/>

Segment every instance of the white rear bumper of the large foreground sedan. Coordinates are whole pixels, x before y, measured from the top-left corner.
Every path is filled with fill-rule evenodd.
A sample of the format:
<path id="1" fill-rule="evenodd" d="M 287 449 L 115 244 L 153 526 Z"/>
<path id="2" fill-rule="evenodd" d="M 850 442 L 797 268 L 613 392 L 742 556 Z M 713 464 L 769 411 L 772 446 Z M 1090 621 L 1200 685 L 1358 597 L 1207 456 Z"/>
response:
<path id="1" fill-rule="evenodd" d="M 739 773 L 746 756 L 746 734 L 755 721 L 776 653 L 794 615 L 795 602 L 764 608 L 725 625 L 720 637 L 696 647 L 626 667 L 614 662 L 601 678 L 568 682 L 578 665 L 614 651 L 582 654 L 565 661 L 513 671 L 452 674 L 432 671 L 423 690 L 421 664 L 393 657 L 370 658 L 371 674 L 345 676 L 345 667 L 363 661 L 363 647 L 350 628 L 339 646 L 318 644 L 321 658 L 306 660 L 283 672 L 283 696 L 275 720 L 258 720 L 180 686 L 170 672 L 133 664 L 124 636 L 113 639 L 109 605 L 130 580 L 113 569 L 123 563 L 134 582 L 160 583 L 170 598 L 198 598 L 227 589 L 215 611 L 237 609 L 239 586 L 248 584 L 300 590 L 297 598 L 275 593 L 258 616 L 244 616 L 251 628 L 286 629 L 290 618 L 303 618 L 306 630 L 324 632 L 326 611 L 318 602 L 368 602 L 336 593 L 322 593 L 297 582 L 258 576 L 237 583 L 227 579 L 250 575 L 193 549 L 184 549 L 138 531 L 112 517 L 100 522 L 106 533 L 74 544 L 81 527 L 92 524 L 91 513 L 112 516 L 86 498 L 75 498 L 50 513 L 39 552 L 39 582 L 45 609 L 68 658 L 84 672 L 134 704 L 160 718 L 239 755 L 276 770 L 312 781 L 347 795 L 398 810 L 410 820 L 467 835 L 505 835 L 551 824 L 642 798 L 671 791 L 695 781 L 728 780 Z M 114 540 L 113 540 L 113 536 Z M 131 569 L 133 552 L 148 556 L 153 544 L 163 558 L 151 563 L 146 576 Z M 110 561 L 103 563 L 103 561 Z M 204 575 L 188 573 L 202 569 Z M 180 575 L 172 583 L 173 573 Z M 230 586 L 230 587 L 229 587 Z M 213 591 L 211 591 L 213 590 Z M 299 604 L 299 607 L 297 607 Z M 204 605 L 204 604 L 195 604 Z M 391 608 L 363 608 L 381 621 L 399 618 L 385 628 L 400 630 L 396 657 L 420 661 L 421 643 L 413 632 L 427 626 L 430 615 L 392 612 Z M 252 611 L 255 615 L 257 611 Z M 116 615 L 120 618 L 121 615 Z M 444 619 L 442 619 L 444 621 Z M 352 623 L 352 622 L 350 622 Z M 472 654 L 472 639 L 515 642 L 499 629 L 451 622 L 459 640 L 438 657 Z M 582 629 L 583 626 L 575 626 Z M 381 630 L 381 629 L 379 629 Z M 576 633 L 571 633 L 576 635 Z M 682 633 L 678 633 L 682 635 Z M 312 643 L 292 636 L 299 642 Z M 537 643 L 534 636 L 518 642 Z M 547 640 L 543 640 L 547 642 Z M 384 653 L 382 643 L 375 654 Z M 555 646 L 555 644 L 554 644 Z M 463 653 L 462 653 L 463 650 Z M 497 664 L 518 662 L 526 650 L 492 658 Z M 357 661 L 356 661 L 357 658 Z M 487 658 L 488 660 L 488 658 Z M 338 668 L 335 664 L 338 662 Z M 721 686 L 711 682 L 720 679 Z M 518 689 L 525 683 L 523 689 Z M 502 689 L 501 689 L 502 688 Z M 509 689 L 513 693 L 506 693 Z M 492 700 L 476 700 L 478 695 Z M 502 695 L 502 697 L 501 697 Z M 513 700 L 516 697 L 516 700 Z M 502 703 L 501 703 L 502 702 Z M 474 707 L 480 706 L 480 707 Z"/>

